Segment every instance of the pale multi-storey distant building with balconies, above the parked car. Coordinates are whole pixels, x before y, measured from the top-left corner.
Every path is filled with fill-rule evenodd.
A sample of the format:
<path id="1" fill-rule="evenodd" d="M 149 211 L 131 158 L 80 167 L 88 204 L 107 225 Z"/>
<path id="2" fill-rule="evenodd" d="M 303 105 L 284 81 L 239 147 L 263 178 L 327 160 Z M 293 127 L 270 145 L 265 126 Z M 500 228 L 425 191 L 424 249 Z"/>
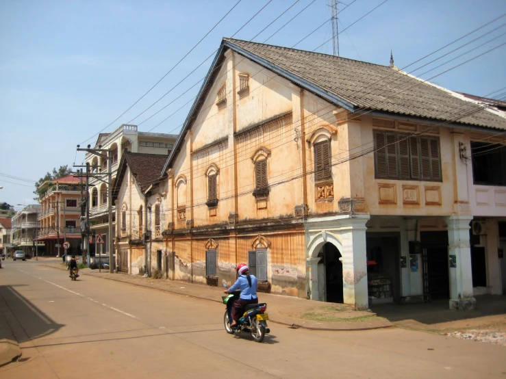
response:
<path id="1" fill-rule="evenodd" d="M 29 257 L 35 257 L 36 242 L 38 235 L 38 213 L 40 204 L 28 205 L 12 218 L 12 244 L 16 250 L 23 250 Z M 38 241 L 38 254 L 43 254 L 44 243 Z"/>

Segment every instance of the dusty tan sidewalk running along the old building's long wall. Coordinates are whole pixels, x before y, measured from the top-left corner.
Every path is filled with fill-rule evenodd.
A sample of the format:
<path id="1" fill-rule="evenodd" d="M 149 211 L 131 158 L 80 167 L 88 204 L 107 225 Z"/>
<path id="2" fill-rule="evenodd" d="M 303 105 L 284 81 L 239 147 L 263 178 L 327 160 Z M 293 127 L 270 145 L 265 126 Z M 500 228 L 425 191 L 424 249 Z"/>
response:
<path id="1" fill-rule="evenodd" d="M 43 263 L 49 267 L 65 270 L 64 265 L 58 260 Z M 178 293 L 184 296 L 222 302 L 224 289 L 210 287 L 203 284 L 179 282 L 166 279 L 143 278 L 138 275 L 110 274 L 99 272 L 89 268 L 79 270 L 80 275 L 96 276 L 108 280 L 129 283 L 142 287 L 159 289 Z M 306 328 L 314 330 L 369 330 L 388 328 L 392 324 L 383 317 L 377 317 L 375 313 L 366 311 L 353 311 L 344 304 L 317 302 L 293 298 L 290 296 L 273 295 L 269 293 L 258 294 L 261 302 L 267 303 L 269 321 L 277 324 L 291 326 L 292 328 Z"/>

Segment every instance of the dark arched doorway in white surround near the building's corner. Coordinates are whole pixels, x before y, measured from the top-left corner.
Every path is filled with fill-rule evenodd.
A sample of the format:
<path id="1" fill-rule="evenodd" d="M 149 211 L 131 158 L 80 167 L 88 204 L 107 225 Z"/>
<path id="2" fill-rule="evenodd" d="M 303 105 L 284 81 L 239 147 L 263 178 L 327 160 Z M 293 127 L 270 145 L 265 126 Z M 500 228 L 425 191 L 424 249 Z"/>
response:
<path id="1" fill-rule="evenodd" d="M 318 257 L 322 257 L 325 271 L 325 300 L 343 303 L 342 255 L 339 249 L 327 242 L 322 246 Z"/>

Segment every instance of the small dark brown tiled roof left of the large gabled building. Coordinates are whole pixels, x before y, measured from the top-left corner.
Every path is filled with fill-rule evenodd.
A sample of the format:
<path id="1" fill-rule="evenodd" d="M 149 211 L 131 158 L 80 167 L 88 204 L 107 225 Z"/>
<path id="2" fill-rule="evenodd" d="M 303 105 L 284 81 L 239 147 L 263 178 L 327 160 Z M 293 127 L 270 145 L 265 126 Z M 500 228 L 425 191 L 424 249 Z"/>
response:
<path id="1" fill-rule="evenodd" d="M 146 191 L 151 184 L 155 183 L 157 179 L 160 178 L 160 172 L 167 161 L 167 156 L 160 154 L 126 152 L 124 156 L 142 192 Z"/>

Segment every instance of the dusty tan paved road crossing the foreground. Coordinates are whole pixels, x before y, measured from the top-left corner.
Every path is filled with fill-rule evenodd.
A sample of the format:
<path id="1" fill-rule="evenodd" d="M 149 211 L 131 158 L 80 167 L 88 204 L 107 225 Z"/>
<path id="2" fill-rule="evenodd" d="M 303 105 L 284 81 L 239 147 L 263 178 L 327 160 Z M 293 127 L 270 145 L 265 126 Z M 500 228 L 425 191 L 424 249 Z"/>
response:
<path id="1" fill-rule="evenodd" d="M 497 345 L 272 323 L 256 343 L 227 335 L 218 303 L 91 276 L 72 282 L 36 261 L 5 261 L 0 296 L 23 350 L 0 378 L 506 378 Z"/>

